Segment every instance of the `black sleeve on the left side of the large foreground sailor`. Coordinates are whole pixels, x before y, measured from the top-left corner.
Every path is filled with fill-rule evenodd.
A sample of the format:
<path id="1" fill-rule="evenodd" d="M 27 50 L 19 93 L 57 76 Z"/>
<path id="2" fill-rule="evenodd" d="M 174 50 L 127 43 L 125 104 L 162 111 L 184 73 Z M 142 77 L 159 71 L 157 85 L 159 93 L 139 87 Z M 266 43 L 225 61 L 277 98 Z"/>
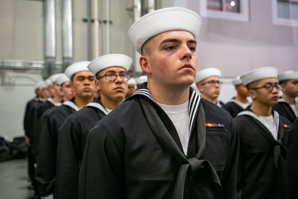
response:
<path id="1" fill-rule="evenodd" d="M 124 198 L 124 142 L 104 119 L 91 129 L 80 169 L 78 198 Z"/>

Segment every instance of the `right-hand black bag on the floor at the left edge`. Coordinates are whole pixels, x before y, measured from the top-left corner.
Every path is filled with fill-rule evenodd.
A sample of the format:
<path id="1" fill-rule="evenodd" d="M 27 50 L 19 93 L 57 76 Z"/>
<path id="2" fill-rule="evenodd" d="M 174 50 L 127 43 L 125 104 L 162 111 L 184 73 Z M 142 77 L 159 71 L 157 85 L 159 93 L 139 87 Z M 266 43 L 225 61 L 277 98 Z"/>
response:
<path id="1" fill-rule="evenodd" d="M 14 138 L 11 142 L 11 156 L 12 159 L 26 158 L 28 145 L 24 136 Z"/>

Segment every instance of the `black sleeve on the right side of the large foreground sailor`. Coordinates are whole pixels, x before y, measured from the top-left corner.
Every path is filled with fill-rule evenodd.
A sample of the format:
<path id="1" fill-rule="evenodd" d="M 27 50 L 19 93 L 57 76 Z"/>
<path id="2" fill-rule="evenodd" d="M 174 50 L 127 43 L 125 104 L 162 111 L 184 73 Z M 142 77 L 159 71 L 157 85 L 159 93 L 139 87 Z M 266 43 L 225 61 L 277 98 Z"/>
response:
<path id="1" fill-rule="evenodd" d="M 231 141 L 229 155 L 223 172 L 221 186 L 223 188 L 223 198 L 236 198 L 236 178 L 237 163 L 239 155 L 239 137 L 235 124 L 231 124 Z"/>

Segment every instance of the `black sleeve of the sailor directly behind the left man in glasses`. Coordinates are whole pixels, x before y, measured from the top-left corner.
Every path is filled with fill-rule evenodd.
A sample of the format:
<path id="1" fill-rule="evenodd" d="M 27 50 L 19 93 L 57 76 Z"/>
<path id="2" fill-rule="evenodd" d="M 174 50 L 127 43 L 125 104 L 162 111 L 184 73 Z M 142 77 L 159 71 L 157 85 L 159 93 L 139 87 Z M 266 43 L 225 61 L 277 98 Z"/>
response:
<path id="1" fill-rule="evenodd" d="M 55 129 L 55 122 L 46 116 L 38 140 L 35 172 L 37 190 L 42 197 L 53 194 L 55 188 L 57 152 L 57 138 L 55 141 L 55 135 L 53 135 Z"/>

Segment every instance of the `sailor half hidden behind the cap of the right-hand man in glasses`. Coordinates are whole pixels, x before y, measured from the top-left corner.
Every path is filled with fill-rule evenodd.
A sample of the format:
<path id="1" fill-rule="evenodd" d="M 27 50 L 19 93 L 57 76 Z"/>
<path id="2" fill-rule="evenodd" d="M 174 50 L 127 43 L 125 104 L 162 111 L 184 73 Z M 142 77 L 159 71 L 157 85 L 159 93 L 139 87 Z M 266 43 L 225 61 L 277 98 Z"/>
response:
<path id="1" fill-rule="evenodd" d="M 237 91 L 237 96 L 232 98 L 231 101 L 224 105 L 224 110 L 226 110 L 232 115 L 233 118 L 235 118 L 236 115 L 246 109 L 250 103 L 246 99 L 249 96 L 247 87 L 242 84 L 240 76 L 233 79 L 232 83 L 234 84 L 235 90 Z"/>

